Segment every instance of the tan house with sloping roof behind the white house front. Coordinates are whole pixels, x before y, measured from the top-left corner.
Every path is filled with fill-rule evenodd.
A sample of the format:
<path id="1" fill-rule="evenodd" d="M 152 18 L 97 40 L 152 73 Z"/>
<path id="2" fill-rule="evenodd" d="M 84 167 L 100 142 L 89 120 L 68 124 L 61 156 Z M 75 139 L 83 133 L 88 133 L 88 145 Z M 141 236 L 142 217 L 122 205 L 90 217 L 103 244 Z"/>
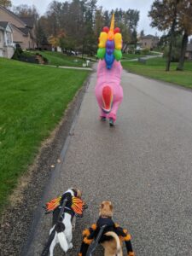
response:
<path id="1" fill-rule="evenodd" d="M 0 21 L 9 22 L 13 30 L 13 42 L 20 44 L 22 49 L 34 49 L 37 46 L 33 17 L 19 17 L 0 5 Z"/>

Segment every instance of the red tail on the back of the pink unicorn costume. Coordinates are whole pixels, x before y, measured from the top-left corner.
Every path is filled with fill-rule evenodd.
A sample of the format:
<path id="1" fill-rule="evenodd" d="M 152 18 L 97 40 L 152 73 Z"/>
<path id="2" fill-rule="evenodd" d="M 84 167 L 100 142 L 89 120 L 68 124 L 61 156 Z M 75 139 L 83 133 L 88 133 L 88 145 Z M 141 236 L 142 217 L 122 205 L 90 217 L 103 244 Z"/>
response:
<path id="1" fill-rule="evenodd" d="M 113 91 L 110 86 L 106 85 L 102 89 L 102 111 L 110 113 L 113 106 Z"/>

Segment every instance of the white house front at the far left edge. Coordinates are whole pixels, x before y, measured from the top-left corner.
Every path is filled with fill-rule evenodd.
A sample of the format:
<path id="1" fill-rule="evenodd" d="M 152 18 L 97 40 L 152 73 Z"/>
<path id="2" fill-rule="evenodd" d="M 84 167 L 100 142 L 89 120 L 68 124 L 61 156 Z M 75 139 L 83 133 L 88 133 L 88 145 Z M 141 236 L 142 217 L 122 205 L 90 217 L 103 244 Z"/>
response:
<path id="1" fill-rule="evenodd" d="M 10 59 L 14 52 L 12 27 L 9 22 L 0 21 L 0 57 Z"/>

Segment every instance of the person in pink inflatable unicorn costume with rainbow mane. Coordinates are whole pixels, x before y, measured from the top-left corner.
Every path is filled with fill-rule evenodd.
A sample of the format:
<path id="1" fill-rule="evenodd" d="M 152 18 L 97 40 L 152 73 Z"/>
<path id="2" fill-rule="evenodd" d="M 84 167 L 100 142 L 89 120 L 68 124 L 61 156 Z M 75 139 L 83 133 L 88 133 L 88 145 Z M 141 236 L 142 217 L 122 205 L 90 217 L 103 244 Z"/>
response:
<path id="1" fill-rule="evenodd" d="M 109 119 L 113 126 L 120 102 L 123 100 L 123 89 L 120 85 L 122 66 L 122 36 L 119 27 L 114 28 L 114 15 L 110 29 L 103 27 L 99 38 L 97 56 L 100 59 L 97 67 L 96 100 L 101 109 L 101 119 Z"/>

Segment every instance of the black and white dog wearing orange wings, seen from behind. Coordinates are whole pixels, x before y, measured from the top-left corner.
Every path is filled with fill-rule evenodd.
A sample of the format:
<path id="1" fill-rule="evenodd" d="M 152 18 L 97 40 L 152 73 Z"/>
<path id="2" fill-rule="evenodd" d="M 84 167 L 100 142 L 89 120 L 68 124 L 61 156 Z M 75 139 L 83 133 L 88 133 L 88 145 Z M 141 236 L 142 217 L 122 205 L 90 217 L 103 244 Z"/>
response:
<path id="1" fill-rule="evenodd" d="M 79 189 L 68 189 L 62 196 L 60 205 L 53 211 L 53 227 L 49 231 L 49 241 L 44 247 L 44 251 L 41 254 L 53 256 L 54 248 L 57 243 L 60 244 L 62 250 L 67 253 L 68 249 L 73 248 L 73 230 L 75 229 L 76 211 L 79 205 L 73 204 L 74 201 L 81 203 L 82 212 L 84 210 L 84 202 L 81 201 L 81 191 Z M 64 203 L 64 206 L 62 207 Z M 63 209 L 62 209 L 63 208 Z"/>

